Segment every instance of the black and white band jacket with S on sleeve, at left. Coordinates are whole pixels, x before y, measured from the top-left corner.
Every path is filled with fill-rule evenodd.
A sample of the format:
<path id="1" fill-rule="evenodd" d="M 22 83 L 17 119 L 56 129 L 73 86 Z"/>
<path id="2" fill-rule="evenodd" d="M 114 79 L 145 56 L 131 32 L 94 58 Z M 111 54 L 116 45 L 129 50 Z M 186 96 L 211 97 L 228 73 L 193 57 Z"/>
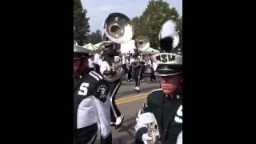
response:
<path id="1" fill-rule="evenodd" d="M 74 78 L 74 131 L 82 134 L 95 124 L 102 138 L 110 135 L 109 86 L 100 74 L 90 71 Z"/>

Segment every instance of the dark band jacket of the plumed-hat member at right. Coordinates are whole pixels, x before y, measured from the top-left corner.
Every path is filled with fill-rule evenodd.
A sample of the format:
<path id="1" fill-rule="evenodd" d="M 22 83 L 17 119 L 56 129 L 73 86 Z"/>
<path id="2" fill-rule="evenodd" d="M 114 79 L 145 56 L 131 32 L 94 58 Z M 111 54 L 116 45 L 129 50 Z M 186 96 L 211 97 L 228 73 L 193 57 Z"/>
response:
<path id="1" fill-rule="evenodd" d="M 160 134 L 160 141 L 175 144 L 178 134 L 182 131 L 182 92 L 177 92 L 174 97 L 163 93 L 162 89 L 153 90 L 144 102 L 136 118 L 135 143 L 142 142 L 142 134 L 147 133 L 146 119 L 143 114 L 153 115 Z"/>

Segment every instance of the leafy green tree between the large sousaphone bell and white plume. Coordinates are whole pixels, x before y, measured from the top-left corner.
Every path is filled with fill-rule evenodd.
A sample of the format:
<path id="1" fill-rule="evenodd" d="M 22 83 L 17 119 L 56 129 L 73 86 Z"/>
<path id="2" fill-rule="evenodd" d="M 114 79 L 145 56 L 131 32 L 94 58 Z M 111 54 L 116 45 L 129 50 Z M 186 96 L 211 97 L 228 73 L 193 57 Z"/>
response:
<path id="1" fill-rule="evenodd" d="M 151 0 L 142 15 L 132 19 L 134 23 L 134 38 L 138 35 L 147 35 L 150 38 L 150 46 L 158 49 L 158 34 L 161 26 L 170 19 L 176 22 L 178 17 L 177 10 L 170 8 L 167 2 Z"/>

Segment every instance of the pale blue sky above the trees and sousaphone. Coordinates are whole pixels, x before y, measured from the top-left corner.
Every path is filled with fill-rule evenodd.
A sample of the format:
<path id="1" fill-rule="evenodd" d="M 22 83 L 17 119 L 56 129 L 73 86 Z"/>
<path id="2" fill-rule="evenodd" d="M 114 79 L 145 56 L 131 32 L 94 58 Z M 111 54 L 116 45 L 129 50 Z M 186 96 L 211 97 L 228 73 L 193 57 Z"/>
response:
<path id="1" fill-rule="evenodd" d="M 82 6 L 90 17 L 90 31 L 103 30 L 105 18 L 114 12 L 126 14 L 129 18 L 139 16 L 146 9 L 149 0 L 81 0 Z M 170 7 L 175 7 L 182 15 L 182 0 L 163 0 Z"/>

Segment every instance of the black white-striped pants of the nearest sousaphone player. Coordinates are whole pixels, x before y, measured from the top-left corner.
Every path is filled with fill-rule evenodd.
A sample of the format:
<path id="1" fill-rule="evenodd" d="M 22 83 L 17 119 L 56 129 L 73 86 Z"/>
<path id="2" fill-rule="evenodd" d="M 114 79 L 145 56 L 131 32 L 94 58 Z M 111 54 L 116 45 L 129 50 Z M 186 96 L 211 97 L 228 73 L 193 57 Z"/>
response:
<path id="1" fill-rule="evenodd" d="M 111 102 L 111 122 L 115 122 L 116 118 L 121 116 L 120 110 L 118 110 L 117 105 L 115 104 L 115 95 L 118 93 L 118 90 L 122 84 L 122 79 L 118 79 L 114 82 L 109 82 L 110 85 L 110 102 Z"/>

